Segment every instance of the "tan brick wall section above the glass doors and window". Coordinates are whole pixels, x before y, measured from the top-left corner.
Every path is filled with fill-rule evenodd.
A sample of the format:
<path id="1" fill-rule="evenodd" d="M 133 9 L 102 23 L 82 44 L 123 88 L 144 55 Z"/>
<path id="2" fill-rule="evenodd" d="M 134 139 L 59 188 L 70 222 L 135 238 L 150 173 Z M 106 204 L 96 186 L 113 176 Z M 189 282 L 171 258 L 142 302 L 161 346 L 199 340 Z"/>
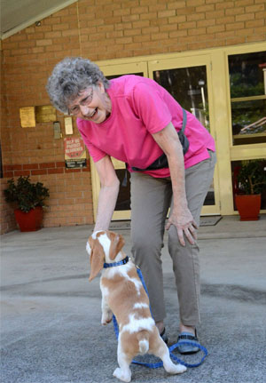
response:
<path id="1" fill-rule="evenodd" d="M 265 0 L 82 0 L 78 9 L 91 60 L 265 40 Z"/>

